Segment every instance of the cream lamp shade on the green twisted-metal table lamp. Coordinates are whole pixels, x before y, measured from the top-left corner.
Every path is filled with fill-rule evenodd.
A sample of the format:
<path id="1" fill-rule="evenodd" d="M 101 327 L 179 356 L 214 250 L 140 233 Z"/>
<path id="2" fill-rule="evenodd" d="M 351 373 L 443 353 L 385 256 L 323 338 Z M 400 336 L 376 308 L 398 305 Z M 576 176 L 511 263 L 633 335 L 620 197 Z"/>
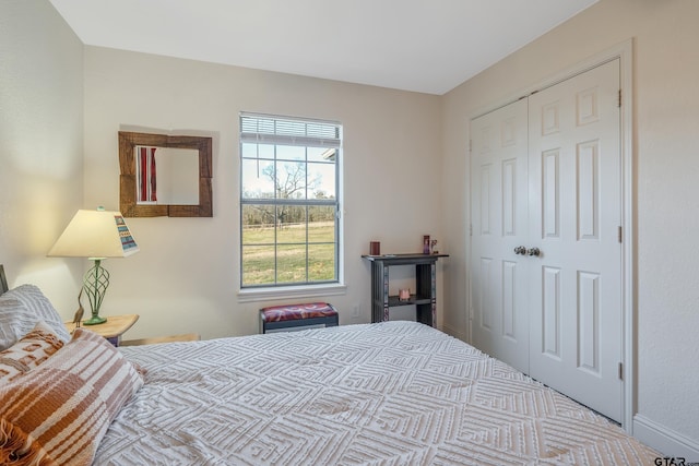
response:
<path id="1" fill-rule="evenodd" d="M 139 252 L 120 212 L 80 210 L 48 252 L 59 258 L 126 258 Z"/>

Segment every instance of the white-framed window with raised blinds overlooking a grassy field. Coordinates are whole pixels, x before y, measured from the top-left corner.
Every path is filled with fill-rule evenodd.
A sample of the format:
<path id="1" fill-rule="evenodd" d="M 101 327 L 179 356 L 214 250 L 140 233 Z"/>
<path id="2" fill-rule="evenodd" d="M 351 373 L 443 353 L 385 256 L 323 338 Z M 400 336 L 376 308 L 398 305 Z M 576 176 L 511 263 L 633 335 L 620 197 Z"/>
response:
<path id="1" fill-rule="evenodd" d="M 242 288 L 339 282 L 342 127 L 240 115 Z"/>

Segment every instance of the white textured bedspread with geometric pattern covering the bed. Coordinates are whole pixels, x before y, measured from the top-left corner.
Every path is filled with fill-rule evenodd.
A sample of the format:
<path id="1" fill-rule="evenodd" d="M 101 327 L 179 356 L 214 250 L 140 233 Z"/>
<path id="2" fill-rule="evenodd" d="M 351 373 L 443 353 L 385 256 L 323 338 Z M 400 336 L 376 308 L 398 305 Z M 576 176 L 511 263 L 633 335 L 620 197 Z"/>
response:
<path id="1" fill-rule="evenodd" d="M 617 426 L 414 322 L 123 347 L 95 465 L 652 465 Z"/>

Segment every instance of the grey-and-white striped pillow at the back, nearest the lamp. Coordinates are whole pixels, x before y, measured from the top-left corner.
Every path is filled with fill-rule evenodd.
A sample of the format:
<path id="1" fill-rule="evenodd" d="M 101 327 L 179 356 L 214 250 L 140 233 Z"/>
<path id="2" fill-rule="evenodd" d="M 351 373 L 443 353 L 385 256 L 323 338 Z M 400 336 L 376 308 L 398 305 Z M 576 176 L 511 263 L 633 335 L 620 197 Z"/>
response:
<path id="1" fill-rule="evenodd" d="M 14 345 L 44 321 L 67 343 L 70 334 L 56 308 L 36 285 L 20 285 L 0 295 L 0 351 Z"/>

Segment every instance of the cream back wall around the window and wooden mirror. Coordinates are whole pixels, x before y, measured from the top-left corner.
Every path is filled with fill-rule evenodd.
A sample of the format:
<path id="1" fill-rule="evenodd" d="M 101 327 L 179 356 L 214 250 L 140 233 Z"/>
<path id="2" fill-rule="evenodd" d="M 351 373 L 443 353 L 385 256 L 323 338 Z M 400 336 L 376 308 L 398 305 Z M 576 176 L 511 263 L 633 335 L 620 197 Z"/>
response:
<path id="1" fill-rule="evenodd" d="M 370 321 L 370 270 L 360 259 L 370 240 L 389 253 L 422 251 L 424 234 L 442 238 L 439 97 L 86 47 L 85 206 L 119 207 L 123 127 L 214 138 L 213 218 L 127 218 L 141 252 L 105 262 L 104 314 L 141 316 L 129 338 L 257 333 L 258 309 L 281 302 L 237 300 L 240 111 L 343 123 L 347 288 L 313 298 L 335 304 L 342 324 Z M 359 319 L 351 316 L 355 306 Z"/>

